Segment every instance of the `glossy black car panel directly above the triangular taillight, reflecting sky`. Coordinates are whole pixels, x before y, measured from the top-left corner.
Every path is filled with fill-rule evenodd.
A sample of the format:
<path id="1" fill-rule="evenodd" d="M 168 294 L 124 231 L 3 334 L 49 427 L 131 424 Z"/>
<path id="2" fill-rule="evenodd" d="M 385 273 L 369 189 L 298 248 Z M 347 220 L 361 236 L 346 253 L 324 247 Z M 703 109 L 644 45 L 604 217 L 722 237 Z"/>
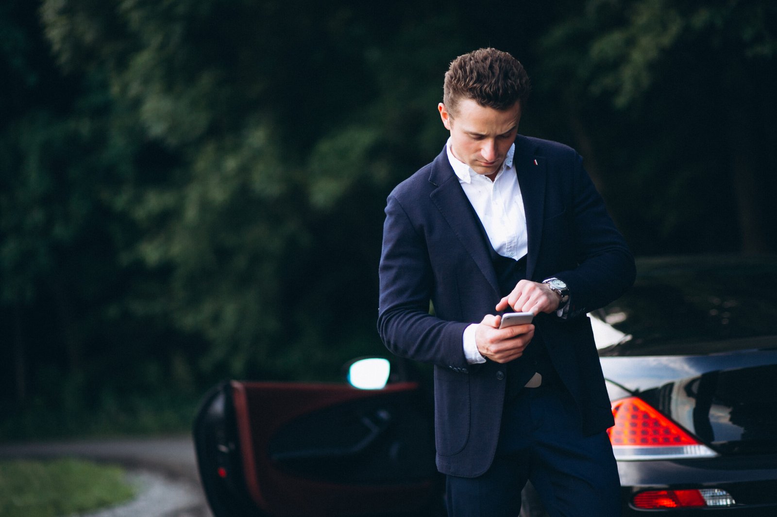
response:
<path id="1" fill-rule="evenodd" d="M 777 350 L 602 357 L 601 365 L 611 383 L 718 453 L 777 453 Z"/>

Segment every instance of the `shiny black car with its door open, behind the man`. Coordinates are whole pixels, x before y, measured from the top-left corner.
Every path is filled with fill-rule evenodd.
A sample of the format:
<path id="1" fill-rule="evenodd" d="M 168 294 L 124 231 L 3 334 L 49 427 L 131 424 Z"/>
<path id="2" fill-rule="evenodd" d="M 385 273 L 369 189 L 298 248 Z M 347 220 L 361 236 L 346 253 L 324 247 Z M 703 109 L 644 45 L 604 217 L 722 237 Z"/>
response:
<path id="1" fill-rule="evenodd" d="M 624 515 L 777 515 L 777 259 L 638 271 L 589 315 Z M 355 362 L 350 384 L 214 388 L 194 425 L 214 515 L 444 515 L 428 384 L 391 363 Z M 521 515 L 544 515 L 524 496 Z"/>

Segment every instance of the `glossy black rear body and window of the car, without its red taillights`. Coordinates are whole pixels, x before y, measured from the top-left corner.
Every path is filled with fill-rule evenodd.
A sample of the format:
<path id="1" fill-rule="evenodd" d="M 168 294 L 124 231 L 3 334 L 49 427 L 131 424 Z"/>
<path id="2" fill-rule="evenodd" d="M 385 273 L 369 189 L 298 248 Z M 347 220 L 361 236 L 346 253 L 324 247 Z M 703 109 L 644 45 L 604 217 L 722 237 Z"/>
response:
<path id="1" fill-rule="evenodd" d="M 623 514 L 777 515 L 777 260 L 671 257 L 637 268 L 633 289 L 590 315 L 608 394 L 639 397 L 717 456 L 618 460 Z M 647 510 L 632 501 L 702 488 L 735 504 Z"/>

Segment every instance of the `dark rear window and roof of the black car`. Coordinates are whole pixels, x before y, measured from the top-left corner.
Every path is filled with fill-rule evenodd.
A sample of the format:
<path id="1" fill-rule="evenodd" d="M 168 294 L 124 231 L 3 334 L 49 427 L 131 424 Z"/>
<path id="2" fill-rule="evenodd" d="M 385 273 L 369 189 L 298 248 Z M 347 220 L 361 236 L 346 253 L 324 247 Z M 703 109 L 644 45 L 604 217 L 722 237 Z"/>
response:
<path id="1" fill-rule="evenodd" d="M 645 259 L 637 271 L 628 293 L 591 314 L 618 331 L 598 339 L 600 355 L 770 346 L 765 336 L 777 347 L 777 258 Z"/>

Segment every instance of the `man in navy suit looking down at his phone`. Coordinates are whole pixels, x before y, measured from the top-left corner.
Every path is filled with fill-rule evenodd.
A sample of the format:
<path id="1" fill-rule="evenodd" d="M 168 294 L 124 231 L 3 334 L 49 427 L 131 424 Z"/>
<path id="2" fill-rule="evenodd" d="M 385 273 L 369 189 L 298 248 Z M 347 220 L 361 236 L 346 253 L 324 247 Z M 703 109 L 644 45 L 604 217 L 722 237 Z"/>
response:
<path id="1" fill-rule="evenodd" d="M 435 366 L 449 515 L 514 517 L 527 479 L 550 515 L 619 515 L 586 313 L 631 286 L 634 261 L 582 158 L 517 134 L 528 92 L 510 54 L 451 63 L 437 106 L 448 144 L 385 209 L 378 331 Z M 503 311 L 534 321 L 500 329 Z"/>

